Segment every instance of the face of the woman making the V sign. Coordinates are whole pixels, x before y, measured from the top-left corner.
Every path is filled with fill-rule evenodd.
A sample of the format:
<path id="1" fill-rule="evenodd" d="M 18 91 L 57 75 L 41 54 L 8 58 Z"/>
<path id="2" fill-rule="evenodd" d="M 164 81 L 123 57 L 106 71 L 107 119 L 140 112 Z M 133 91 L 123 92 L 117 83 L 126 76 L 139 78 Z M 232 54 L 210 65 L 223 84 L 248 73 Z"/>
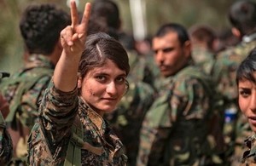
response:
<path id="1" fill-rule="evenodd" d="M 82 80 L 79 78 L 82 98 L 103 115 L 115 109 L 125 93 L 126 72 L 113 61 L 106 60 L 104 66 L 91 69 Z"/>

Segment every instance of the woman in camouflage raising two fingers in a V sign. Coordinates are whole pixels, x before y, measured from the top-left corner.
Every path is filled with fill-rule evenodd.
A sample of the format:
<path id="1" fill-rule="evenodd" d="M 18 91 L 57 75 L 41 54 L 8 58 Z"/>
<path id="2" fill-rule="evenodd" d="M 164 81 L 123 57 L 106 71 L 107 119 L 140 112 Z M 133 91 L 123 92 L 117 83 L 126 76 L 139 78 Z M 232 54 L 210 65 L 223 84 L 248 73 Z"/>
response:
<path id="1" fill-rule="evenodd" d="M 128 56 L 120 43 L 104 33 L 91 35 L 85 43 L 89 16 L 87 3 L 79 24 L 72 1 L 72 26 L 61 31 L 61 58 L 29 139 L 29 165 L 126 163 L 122 143 L 102 116 L 114 110 L 128 88 Z M 76 141 L 79 129 L 82 140 Z M 73 141 L 79 144 L 79 153 L 75 147 L 70 151 Z"/>

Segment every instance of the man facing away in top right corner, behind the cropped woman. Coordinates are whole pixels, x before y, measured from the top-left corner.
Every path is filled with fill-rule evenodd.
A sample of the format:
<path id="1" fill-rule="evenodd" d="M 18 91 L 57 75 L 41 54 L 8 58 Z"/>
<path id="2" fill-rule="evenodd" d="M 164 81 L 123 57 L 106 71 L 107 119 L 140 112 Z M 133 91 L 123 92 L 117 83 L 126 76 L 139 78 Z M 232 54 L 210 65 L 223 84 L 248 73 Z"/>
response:
<path id="1" fill-rule="evenodd" d="M 224 96 L 224 140 L 227 145 L 226 156 L 232 165 L 239 163 L 243 139 L 251 134 L 247 120 L 237 106 L 236 69 L 256 46 L 255 18 L 255 2 L 241 0 L 231 5 L 229 19 L 233 26 L 232 32 L 241 42 L 217 54 L 213 71 L 218 92 Z"/>

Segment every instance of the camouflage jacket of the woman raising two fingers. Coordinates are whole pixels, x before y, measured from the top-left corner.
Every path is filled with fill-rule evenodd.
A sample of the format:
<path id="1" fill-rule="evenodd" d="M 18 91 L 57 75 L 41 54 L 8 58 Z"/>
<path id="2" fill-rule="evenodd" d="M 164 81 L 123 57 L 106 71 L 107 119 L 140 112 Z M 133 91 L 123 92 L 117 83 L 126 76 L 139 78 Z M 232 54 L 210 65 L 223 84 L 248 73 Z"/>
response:
<path id="1" fill-rule="evenodd" d="M 63 165 L 77 115 L 83 124 L 83 140 L 89 145 L 81 151 L 81 165 L 125 165 L 127 157 L 119 138 L 108 123 L 78 97 L 78 89 L 64 93 L 53 86 L 44 94 L 38 123 L 28 140 L 27 163 Z"/>

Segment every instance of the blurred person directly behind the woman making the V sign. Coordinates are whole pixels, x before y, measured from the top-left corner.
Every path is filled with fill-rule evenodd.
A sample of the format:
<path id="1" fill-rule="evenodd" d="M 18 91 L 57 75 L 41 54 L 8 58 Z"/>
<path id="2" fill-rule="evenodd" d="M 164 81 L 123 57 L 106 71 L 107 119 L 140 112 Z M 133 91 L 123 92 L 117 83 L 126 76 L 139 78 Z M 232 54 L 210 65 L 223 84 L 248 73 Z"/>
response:
<path id="1" fill-rule="evenodd" d="M 120 101 L 115 112 L 109 112 L 104 117 L 108 119 L 124 143 L 128 165 L 135 165 L 139 129 L 145 113 L 154 100 L 153 73 L 148 67 L 147 59 L 137 53 L 134 37 L 122 30 L 122 20 L 117 3 L 111 0 L 94 1 L 91 4 L 90 20 L 102 21 L 102 25 L 107 25 L 108 34 L 122 43 L 129 56 L 131 71 L 127 80 L 130 83 L 130 89 Z"/>

